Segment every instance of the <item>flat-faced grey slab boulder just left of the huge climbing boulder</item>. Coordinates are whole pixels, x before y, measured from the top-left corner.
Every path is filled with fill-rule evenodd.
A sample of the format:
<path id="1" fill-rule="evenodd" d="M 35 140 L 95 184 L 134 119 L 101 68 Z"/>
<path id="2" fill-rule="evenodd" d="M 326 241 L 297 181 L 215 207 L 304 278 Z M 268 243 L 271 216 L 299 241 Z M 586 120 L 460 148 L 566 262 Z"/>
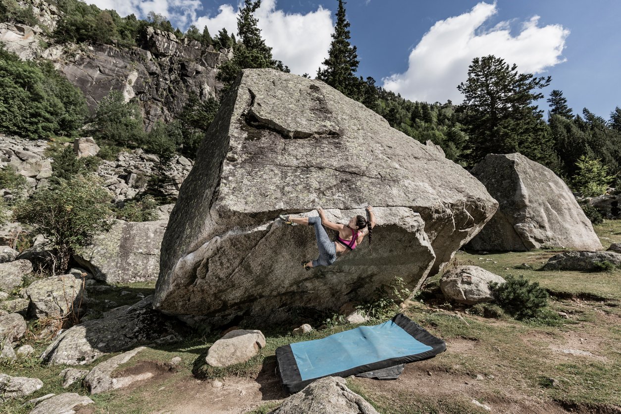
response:
<path id="1" fill-rule="evenodd" d="M 75 255 L 76 261 L 93 277 L 108 283 L 157 279 L 160 246 L 167 220 L 124 222 L 94 237 L 93 244 Z"/>

